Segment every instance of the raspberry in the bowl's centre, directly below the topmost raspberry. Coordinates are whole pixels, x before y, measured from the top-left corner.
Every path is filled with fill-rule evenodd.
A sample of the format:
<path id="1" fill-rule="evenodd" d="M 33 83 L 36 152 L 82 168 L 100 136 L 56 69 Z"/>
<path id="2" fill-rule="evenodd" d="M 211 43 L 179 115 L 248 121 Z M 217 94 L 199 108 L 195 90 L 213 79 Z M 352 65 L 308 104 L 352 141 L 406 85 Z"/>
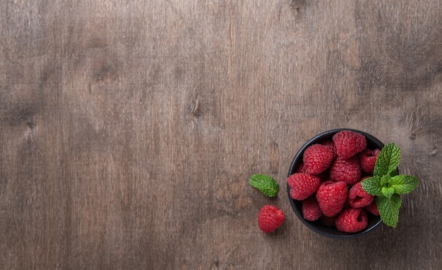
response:
<path id="1" fill-rule="evenodd" d="M 361 164 L 355 155 L 352 158 L 336 158 L 330 166 L 329 177 L 331 180 L 344 181 L 352 185 L 359 181 L 361 174 Z"/>

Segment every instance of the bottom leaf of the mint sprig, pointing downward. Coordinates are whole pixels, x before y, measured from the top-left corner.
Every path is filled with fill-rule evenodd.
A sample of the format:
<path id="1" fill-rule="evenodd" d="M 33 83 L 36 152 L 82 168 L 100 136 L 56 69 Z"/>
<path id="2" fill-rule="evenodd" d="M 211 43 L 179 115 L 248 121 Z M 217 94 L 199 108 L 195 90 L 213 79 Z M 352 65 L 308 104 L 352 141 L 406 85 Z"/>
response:
<path id="1" fill-rule="evenodd" d="M 399 194 L 393 194 L 390 198 L 386 196 L 376 196 L 376 206 L 378 206 L 379 216 L 383 223 L 396 228 L 399 221 L 399 209 L 402 200 Z"/>

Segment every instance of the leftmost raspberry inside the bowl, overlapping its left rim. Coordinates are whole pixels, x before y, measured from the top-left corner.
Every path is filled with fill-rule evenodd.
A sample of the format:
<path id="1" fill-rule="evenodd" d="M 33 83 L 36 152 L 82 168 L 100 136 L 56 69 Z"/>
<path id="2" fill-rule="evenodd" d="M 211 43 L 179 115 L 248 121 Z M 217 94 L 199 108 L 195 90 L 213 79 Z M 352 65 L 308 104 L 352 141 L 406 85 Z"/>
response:
<path id="1" fill-rule="evenodd" d="M 295 200 L 302 201 L 316 192 L 321 184 L 321 179 L 316 175 L 294 173 L 287 178 L 287 183 L 292 188 L 290 196 Z"/>

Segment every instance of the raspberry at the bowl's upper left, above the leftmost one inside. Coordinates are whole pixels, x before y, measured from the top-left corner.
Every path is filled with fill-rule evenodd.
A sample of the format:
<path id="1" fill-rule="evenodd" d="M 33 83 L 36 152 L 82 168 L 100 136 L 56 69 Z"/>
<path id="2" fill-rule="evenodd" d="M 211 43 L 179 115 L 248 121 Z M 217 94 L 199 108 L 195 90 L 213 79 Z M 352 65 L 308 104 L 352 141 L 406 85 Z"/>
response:
<path id="1" fill-rule="evenodd" d="M 319 175 L 327 170 L 333 161 L 333 152 L 323 144 L 313 144 L 304 151 L 304 168 L 311 175 Z"/>

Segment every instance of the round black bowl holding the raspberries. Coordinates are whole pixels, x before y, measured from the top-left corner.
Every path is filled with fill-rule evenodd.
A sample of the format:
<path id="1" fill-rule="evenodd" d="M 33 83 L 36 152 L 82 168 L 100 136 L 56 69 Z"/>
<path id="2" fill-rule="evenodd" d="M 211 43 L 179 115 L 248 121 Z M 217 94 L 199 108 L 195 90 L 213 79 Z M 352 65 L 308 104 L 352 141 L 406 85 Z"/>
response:
<path id="1" fill-rule="evenodd" d="M 307 141 L 307 143 L 304 144 L 304 146 L 302 146 L 301 149 L 299 149 L 298 153 L 294 156 L 294 159 L 292 161 L 292 165 L 290 165 L 289 175 L 287 175 L 287 177 L 289 177 L 290 175 L 293 175 L 296 172 L 299 164 L 302 162 L 302 157 L 304 155 L 304 151 L 306 150 L 306 148 L 308 148 L 312 144 L 319 143 L 323 140 L 327 140 L 327 139 L 331 140 L 333 138 L 333 135 L 338 133 L 338 131 L 342 131 L 342 130 L 351 130 L 351 131 L 363 134 L 366 138 L 367 148 L 381 149 L 384 146 L 384 144 L 381 141 L 379 141 L 374 136 L 367 134 L 363 131 L 359 131 L 359 130 L 355 130 L 355 129 L 333 129 L 333 130 L 325 131 L 321 134 L 314 136 L 312 139 Z M 367 227 L 364 230 L 361 230 L 358 233 L 343 233 L 343 232 L 340 232 L 339 230 L 337 230 L 335 227 L 327 227 L 325 225 L 322 225 L 319 221 L 307 221 L 306 219 L 304 219 L 304 216 L 302 214 L 302 203 L 301 203 L 301 201 L 297 201 L 295 199 L 292 199 L 292 197 L 290 196 L 289 184 L 287 184 L 287 192 L 289 195 L 290 204 L 292 204 L 292 208 L 294 210 L 294 213 L 296 213 L 299 220 L 301 220 L 302 223 L 304 223 L 304 225 L 306 225 L 308 228 L 313 230 L 313 232 L 323 235 L 325 237 L 330 237 L 330 238 L 335 238 L 335 239 L 351 239 L 354 237 L 366 235 L 367 233 L 371 232 L 375 228 L 378 228 L 379 225 L 381 225 L 381 223 L 382 223 L 381 218 L 379 216 L 374 216 L 373 214 L 371 214 L 367 211 L 367 215 L 369 216 L 369 225 L 367 225 Z"/>

